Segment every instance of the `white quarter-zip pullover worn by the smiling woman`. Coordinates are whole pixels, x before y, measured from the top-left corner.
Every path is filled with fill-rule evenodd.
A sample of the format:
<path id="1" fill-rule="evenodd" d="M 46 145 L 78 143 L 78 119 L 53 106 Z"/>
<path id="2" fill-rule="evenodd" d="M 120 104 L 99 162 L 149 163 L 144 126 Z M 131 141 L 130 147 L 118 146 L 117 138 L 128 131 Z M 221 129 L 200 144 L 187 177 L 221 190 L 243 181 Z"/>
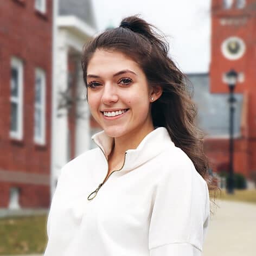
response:
<path id="1" fill-rule="evenodd" d="M 99 148 L 61 170 L 44 256 L 200 256 L 210 216 L 207 183 L 167 129 L 127 150 L 123 167 L 104 183 L 113 138 L 101 131 L 92 139 Z"/>

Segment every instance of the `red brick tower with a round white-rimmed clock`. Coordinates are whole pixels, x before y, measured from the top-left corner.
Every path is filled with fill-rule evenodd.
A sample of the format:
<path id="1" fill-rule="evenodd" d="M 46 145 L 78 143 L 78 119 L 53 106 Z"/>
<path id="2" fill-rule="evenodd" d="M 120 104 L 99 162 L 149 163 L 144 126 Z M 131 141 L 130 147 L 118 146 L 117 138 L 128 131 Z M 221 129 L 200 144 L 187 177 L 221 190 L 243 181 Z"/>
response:
<path id="1" fill-rule="evenodd" d="M 243 94 L 234 171 L 250 178 L 256 172 L 256 0 L 212 0 L 211 93 L 229 93 L 225 74 L 232 68 L 239 74 L 234 92 Z"/>

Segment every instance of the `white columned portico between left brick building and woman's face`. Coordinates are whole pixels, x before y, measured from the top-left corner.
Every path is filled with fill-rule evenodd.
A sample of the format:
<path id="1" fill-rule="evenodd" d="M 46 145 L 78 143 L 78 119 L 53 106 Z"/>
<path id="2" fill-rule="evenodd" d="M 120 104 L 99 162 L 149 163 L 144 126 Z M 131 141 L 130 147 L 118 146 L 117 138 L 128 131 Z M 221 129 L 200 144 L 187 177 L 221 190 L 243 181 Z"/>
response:
<path id="1" fill-rule="evenodd" d="M 55 110 L 53 111 L 53 163 L 52 163 L 52 196 L 55 191 L 57 178 L 60 170 L 70 159 L 68 159 L 69 131 L 67 108 L 57 109 L 61 100 L 61 93 L 68 89 L 68 57 L 77 59 L 76 70 L 76 97 L 84 99 L 76 103 L 76 112 L 82 118 L 76 118 L 75 123 L 75 156 L 80 155 L 90 148 L 89 109 L 85 100 L 86 88 L 82 78 L 81 54 L 85 42 L 91 39 L 96 31 L 84 21 L 75 16 L 60 16 L 56 18 L 57 30 L 56 40 L 56 70 L 54 86 Z M 54 185 L 55 184 L 55 185 Z"/>

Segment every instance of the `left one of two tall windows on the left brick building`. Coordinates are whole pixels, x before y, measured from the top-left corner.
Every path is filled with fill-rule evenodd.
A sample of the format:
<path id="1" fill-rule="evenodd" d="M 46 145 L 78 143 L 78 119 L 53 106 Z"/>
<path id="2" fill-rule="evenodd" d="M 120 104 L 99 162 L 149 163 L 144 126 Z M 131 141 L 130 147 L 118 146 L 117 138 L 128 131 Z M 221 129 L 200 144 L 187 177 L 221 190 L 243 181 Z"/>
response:
<path id="1" fill-rule="evenodd" d="M 11 123 L 10 137 L 22 139 L 23 137 L 23 64 L 16 57 L 11 59 L 10 81 L 10 107 Z"/>

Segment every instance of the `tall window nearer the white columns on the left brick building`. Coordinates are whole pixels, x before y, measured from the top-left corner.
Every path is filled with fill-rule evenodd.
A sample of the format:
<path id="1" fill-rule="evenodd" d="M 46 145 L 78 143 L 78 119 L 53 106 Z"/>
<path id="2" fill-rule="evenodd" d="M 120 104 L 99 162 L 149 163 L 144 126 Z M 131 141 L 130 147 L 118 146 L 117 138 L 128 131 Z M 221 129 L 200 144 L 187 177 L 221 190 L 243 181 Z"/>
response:
<path id="1" fill-rule="evenodd" d="M 35 72 L 35 116 L 34 116 L 34 141 L 38 144 L 45 143 L 45 95 L 46 75 L 40 68 Z"/>

